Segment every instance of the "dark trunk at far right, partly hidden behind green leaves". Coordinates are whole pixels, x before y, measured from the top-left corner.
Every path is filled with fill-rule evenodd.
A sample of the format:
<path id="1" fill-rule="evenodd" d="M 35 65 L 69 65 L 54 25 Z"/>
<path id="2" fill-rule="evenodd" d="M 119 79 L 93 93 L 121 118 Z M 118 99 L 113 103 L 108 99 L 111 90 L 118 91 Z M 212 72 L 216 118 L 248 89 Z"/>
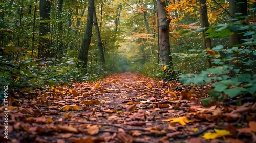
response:
<path id="1" fill-rule="evenodd" d="M 229 1 L 229 13 L 230 13 L 230 23 L 236 21 L 236 20 L 243 20 L 242 18 L 234 19 L 238 16 L 246 16 L 247 15 L 247 1 L 246 0 L 230 0 Z M 236 13 L 242 13 L 241 15 L 236 15 Z M 244 31 L 234 31 L 233 35 L 229 36 L 229 46 L 235 46 L 238 44 L 241 44 L 243 41 L 241 39 L 245 39 L 246 37 L 243 37 Z M 241 33 L 241 34 L 238 34 Z"/>

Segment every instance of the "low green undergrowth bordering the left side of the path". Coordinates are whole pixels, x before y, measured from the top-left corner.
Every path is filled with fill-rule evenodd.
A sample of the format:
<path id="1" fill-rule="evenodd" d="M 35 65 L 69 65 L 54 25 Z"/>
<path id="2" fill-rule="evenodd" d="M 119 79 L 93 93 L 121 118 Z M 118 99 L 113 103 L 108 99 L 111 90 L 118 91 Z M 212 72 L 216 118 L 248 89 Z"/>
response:
<path id="1" fill-rule="evenodd" d="M 96 75 L 82 68 L 75 68 L 78 62 L 73 58 L 51 61 L 22 61 L 15 68 L 1 66 L 0 82 L 11 88 L 45 88 L 54 85 L 70 85 L 74 81 L 86 82 L 98 80 Z"/>

